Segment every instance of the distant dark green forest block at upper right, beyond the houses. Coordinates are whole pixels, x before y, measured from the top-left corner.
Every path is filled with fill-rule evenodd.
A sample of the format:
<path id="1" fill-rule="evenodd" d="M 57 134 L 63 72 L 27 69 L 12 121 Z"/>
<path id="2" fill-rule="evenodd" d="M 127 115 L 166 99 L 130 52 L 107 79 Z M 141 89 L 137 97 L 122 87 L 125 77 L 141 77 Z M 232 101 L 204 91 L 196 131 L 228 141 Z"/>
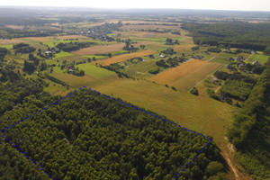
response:
<path id="1" fill-rule="evenodd" d="M 222 44 L 270 53 L 270 23 L 184 23 L 183 29 L 191 31 L 195 44 Z"/>

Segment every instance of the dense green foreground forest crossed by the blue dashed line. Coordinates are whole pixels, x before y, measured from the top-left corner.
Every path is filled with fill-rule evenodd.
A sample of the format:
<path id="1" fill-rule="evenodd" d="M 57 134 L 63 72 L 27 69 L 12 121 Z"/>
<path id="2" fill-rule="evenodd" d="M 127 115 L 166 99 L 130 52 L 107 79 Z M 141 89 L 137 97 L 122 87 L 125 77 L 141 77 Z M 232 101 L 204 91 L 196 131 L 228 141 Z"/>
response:
<path id="1" fill-rule="evenodd" d="M 43 92 L 41 81 L 0 84 L 1 97 L 9 104 L 2 106 L 1 130 L 61 98 Z M 209 142 L 85 89 L 4 130 L 4 135 L 56 180 L 175 179 Z M 0 145 L 0 179 L 48 178 L 8 143 L 2 139 Z M 223 179 L 220 161 L 211 142 L 178 179 Z"/>

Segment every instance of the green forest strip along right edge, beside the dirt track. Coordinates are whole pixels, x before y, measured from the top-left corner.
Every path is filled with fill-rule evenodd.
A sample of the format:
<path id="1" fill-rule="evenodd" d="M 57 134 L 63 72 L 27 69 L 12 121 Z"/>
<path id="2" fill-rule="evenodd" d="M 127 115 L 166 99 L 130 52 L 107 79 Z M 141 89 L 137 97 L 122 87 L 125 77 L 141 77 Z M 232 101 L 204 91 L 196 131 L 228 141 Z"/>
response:
<path id="1" fill-rule="evenodd" d="M 238 162 L 258 180 L 270 179 L 270 58 L 265 67 L 228 132 Z"/>

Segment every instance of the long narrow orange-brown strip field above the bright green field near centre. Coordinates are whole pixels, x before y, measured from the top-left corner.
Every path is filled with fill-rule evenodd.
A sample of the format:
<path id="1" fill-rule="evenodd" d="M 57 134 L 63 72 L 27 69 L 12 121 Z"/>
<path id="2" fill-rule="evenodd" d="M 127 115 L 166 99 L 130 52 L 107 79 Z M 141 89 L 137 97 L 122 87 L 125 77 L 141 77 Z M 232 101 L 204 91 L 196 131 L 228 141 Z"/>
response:
<path id="1" fill-rule="evenodd" d="M 144 51 L 134 52 L 130 54 L 123 54 L 123 55 L 112 57 L 112 58 L 105 58 L 103 60 L 99 60 L 99 61 L 95 61 L 91 63 L 92 64 L 98 63 L 102 66 L 109 66 L 110 64 L 122 62 L 129 58 L 143 57 L 143 56 L 148 56 L 150 54 L 155 54 L 155 53 L 157 53 L 157 51 L 155 50 L 144 50 Z"/>

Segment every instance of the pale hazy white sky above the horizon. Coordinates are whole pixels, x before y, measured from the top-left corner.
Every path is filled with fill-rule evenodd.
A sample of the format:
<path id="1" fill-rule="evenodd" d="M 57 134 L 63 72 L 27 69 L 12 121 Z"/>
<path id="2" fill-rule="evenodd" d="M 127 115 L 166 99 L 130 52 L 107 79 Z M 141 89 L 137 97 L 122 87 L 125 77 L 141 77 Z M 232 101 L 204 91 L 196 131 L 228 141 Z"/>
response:
<path id="1" fill-rule="evenodd" d="M 270 0 L 1 0 L 0 5 L 270 11 Z"/>

